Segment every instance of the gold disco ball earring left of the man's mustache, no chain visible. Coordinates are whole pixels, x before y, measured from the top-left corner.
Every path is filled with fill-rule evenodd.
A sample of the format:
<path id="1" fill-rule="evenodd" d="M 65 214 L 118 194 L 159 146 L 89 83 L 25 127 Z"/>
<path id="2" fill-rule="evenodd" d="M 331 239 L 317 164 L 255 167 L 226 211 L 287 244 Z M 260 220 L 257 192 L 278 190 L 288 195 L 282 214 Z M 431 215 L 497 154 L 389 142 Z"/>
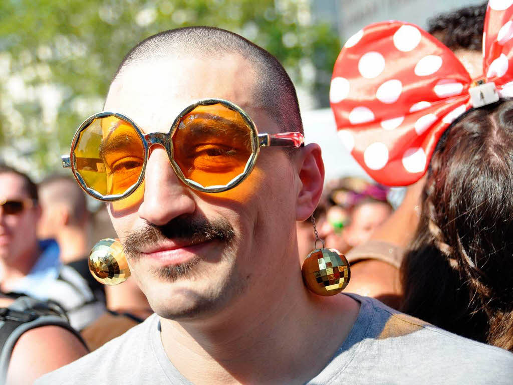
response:
<path id="1" fill-rule="evenodd" d="M 117 285 L 130 277 L 119 239 L 105 238 L 94 245 L 89 253 L 89 271 L 96 281 L 104 285 Z"/>

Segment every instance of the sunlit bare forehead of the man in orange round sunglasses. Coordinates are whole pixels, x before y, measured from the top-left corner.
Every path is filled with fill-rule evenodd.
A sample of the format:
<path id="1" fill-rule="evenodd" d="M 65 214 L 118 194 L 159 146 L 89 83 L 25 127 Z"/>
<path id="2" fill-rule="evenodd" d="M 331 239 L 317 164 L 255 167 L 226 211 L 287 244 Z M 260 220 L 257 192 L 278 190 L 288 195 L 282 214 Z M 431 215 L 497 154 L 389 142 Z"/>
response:
<path id="1" fill-rule="evenodd" d="M 255 73 L 246 60 L 235 54 L 213 59 L 184 55 L 123 68 L 104 110 L 127 115 L 146 132 L 167 132 L 176 115 L 200 99 L 225 99 L 251 112 Z"/>

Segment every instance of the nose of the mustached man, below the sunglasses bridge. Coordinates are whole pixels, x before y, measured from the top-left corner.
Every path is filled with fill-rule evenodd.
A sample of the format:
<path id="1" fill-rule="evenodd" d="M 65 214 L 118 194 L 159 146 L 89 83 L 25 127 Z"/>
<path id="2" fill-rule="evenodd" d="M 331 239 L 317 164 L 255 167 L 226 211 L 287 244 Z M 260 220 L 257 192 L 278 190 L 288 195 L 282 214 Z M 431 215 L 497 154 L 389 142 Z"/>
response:
<path id="1" fill-rule="evenodd" d="M 151 148 L 145 171 L 144 201 L 139 216 L 162 226 L 182 214 L 192 214 L 196 204 L 190 190 L 176 176 L 166 150 Z"/>

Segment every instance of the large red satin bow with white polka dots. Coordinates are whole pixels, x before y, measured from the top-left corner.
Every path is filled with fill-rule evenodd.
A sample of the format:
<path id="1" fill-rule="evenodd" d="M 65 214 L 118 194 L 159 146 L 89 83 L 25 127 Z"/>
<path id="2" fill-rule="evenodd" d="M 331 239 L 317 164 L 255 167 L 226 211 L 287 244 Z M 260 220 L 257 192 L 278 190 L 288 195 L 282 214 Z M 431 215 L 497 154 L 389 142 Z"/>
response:
<path id="1" fill-rule="evenodd" d="M 478 102 L 483 94 L 491 95 L 487 103 L 513 96 L 512 5 L 488 3 L 479 79 L 470 79 L 452 51 L 412 24 L 371 24 L 349 38 L 329 98 L 340 139 L 374 180 L 390 186 L 419 180 L 444 130 L 479 106 L 476 90 Z"/>

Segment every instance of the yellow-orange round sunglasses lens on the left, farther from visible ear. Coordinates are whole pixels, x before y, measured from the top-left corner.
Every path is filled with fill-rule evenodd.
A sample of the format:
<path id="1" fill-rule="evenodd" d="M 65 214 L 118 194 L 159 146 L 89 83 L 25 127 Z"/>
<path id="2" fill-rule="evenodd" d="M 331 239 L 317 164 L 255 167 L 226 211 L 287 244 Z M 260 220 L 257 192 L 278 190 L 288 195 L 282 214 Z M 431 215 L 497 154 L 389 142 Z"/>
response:
<path id="1" fill-rule="evenodd" d="M 77 174 L 103 196 L 123 194 L 136 184 L 145 156 L 135 128 L 114 116 L 94 119 L 80 133 L 73 153 Z"/>

